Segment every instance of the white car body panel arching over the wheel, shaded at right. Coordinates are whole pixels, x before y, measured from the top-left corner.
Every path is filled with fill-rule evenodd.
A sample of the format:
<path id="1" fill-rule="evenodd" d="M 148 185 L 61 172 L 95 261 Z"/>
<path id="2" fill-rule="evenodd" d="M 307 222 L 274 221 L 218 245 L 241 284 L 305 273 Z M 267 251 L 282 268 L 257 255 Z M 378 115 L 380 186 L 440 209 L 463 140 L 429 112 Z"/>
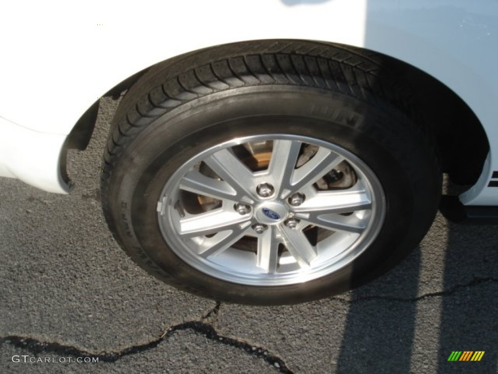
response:
<path id="1" fill-rule="evenodd" d="M 0 6 L 0 18 L 1 35 L 9 35 L 1 42 L 0 116 L 11 121 L 0 122 L 0 176 L 67 192 L 54 165 L 61 139 L 127 77 L 213 45 L 310 39 L 385 53 L 459 95 L 491 145 L 480 180 L 461 200 L 498 205 L 498 188 L 488 187 L 498 170 L 495 0 L 16 1 Z"/>

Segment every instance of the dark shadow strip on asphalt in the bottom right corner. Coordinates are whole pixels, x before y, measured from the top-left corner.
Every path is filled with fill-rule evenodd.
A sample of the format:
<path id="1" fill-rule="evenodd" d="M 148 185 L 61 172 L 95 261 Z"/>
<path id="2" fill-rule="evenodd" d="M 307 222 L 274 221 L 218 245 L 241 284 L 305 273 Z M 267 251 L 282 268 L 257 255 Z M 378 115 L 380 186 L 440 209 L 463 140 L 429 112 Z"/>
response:
<path id="1" fill-rule="evenodd" d="M 438 373 L 496 373 L 498 226 L 449 225 Z M 459 287 L 458 285 L 467 285 Z M 448 362 L 453 351 L 485 351 L 480 362 Z"/>

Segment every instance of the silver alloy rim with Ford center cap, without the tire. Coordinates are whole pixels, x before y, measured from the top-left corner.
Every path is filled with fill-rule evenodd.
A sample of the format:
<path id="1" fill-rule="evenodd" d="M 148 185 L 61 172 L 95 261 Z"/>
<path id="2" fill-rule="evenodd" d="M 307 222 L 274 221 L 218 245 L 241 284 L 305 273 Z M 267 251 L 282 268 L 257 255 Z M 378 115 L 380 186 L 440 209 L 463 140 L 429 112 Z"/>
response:
<path id="1" fill-rule="evenodd" d="M 353 178 L 335 187 L 341 167 Z M 157 203 L 164 240 L 183 261 L 254 286 L 306 282 L 346 266 L 373 242 L 385 210 L 382 187 L 363 161 L 297 135 L 209 148 L 173 174 Z"/>

